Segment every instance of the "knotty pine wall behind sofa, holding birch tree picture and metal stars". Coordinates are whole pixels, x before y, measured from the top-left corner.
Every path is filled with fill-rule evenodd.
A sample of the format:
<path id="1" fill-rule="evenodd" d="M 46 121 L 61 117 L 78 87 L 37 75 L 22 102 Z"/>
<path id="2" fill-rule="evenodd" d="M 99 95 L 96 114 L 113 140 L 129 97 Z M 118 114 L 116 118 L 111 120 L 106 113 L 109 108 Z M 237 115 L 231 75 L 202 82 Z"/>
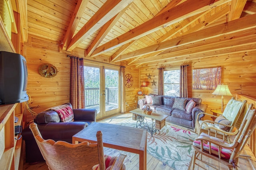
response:
<path id="1" fill-rule="evenodd" d="M 182 63 L 166 64 L 165 67 L 177 67 Z M 202 103 L 208 106 L 207 113 L 211 113 L 210 109 L 221 109 L 221 96 L 212 95 L 213 90 L 193 90 L 192 89 L 192 70 L 198 68 L 222 68 L 221 82 L 227 84 L 230 92 L 234 97 L 236 94 L 246 94 L 256 98 L 256 51 L 248 51 L 245 53 L 232 53 L 229 55 L 220 55 L 203 59 L 192 60 L 186 62 L 188 67 L 188 97 L 202 98 Z M 142 67 L 140 68 L 140 81 L 147 81 L 149 87 L 146 88 L 148 93 L 158 94 L 158 83 L 152 86 L 153 79 L 158 81 L 158 67 Z M 152 80 L 147 80 L 152 75 Z M 227 104 L 232 96 L 224 96 L 224 105 Z M 210 117 L 204 117 L 211 119 Z"/>

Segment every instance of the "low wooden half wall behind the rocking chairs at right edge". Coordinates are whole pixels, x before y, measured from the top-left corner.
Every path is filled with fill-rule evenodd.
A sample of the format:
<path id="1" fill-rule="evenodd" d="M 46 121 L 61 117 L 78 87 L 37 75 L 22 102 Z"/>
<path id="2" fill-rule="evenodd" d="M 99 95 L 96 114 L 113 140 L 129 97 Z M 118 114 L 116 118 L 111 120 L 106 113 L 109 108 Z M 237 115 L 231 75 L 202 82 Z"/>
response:
<path id="1" fill-rule="evenodd" d="M 238 101 L 247 100 L 247 103 L 246 103 L 246 106 L 245 106 L 245 109 L 244 109 L 244 113 L 241 114 L 238 122 L 236 123 L 236 127 L 239 128 L 239 126 L 241 124 L 241 121 L 242 121 L 242 119 L 244 117 L 245 111 L 247 111 L 249 105 L 252 103 L 253 104 L 253 108 L 254 109 L 256 108 L 256 99 L 252 98 L 250 96 L 246 96 L 244 94 L 236 94 L 236 100 L 238 100 Z M 250 139 L 248 140 L 248 145 L 249 145 L 250 149 L 252 150 L 254 156 L 256 156 L 256 130 L 254 130 L 254 132 L 252 133 Z"/>

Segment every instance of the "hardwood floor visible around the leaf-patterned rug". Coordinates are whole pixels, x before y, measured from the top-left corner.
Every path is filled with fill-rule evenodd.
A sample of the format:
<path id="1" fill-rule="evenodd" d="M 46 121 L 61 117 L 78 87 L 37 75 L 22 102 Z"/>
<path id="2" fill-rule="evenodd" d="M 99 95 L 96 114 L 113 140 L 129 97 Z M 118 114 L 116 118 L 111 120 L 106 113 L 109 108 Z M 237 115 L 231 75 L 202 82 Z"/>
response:
<path id="1" fill-rule="evenodd" d="M 116 121 L 117 123 L 122 121 L 122 119 L 128 119 L 132 117 L 131 113 L 124 113 L 124 114 L 117 114 L 114 115 L 112 117 L 108 117 L 105 119 L 101 119 L 98 120 L 98 122 L 107 122 L 109 121 L 109 119 L 112 119 L 112 121 Z M 185 129 L 187 130 L 186 127 L 182 127 L 179 125 L 175 125 L 169 122 L 166 122 L 167 125 L 172 125 L 175 127 L 178 127 L 180 129 Z M 111 156 L 116 156 L 120 153 L 124 153 L 127 155 L 126 159 L 124 160 L 124 164 L 126 166 L 126 170 L 138 170 L 139 166 L 139 156 L 138 154 L 133 154 L 130 152 L 124 152 L 121 150 L 115 150 L 115 149 L 110 149 L 110 148 L 105 148 L 104 149 L 104 153 L 105 154 L 109 154 Z M 249 147 L 245 147 L 245 149 L 242 151 L 242 154 L 247 154 L 252 156 L 252 158 L 246 158 L 246 157 L 242 157 L 239 159 L 239 163 L 238 163 L 238 170 L 255 170 L 256 169 L 256 158 L 255 156 L 253 156 L 252 151 L 249 149 Z M 214 160 L 209 160 L 207 158 L 205 158 L 203 156 L 203 159 L 206 161 L 210 161 L 212 165 L 214 165 L 216 168 L 219 168 L 220 170 L 222 169 L 227 169 L 226 166 L 220 164 L 217 161 Z M 212 168 L 204 165 L 204 164 L 200 164 L 201 166 L 205 167 L 207 170 L 212 170 Z M 48 166 L 45 164 L 45 162 L 39 162 L 37 164 L 28 164 L 25 162 L 24 160 L 24 165 L 23 165 L 23 169 L 24 170 L 48 170 Z M 195 170 L 201 170 L 202 168 L 198 168 L 196 166 Z M 153 156 L 151 156 L 150 154 L 147 154 L 147 170 L 173 170 L 172 168 L 170 168 L 169 166 L 167 166 L 166 164 L 164 164 L 163 162 L 160 162 L 159 160 L 157 160 L 156 158 L 154 158 Z M 184 167 L 184 170 L 186 170 L 186 167 Z"/>

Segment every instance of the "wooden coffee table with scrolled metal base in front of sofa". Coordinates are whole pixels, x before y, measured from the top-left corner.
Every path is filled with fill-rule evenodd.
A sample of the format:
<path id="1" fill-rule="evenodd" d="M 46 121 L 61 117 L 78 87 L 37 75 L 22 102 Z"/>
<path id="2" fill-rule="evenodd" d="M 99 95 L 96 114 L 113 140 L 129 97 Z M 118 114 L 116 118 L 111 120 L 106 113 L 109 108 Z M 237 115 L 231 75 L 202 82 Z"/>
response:
<path id="1" fill-rule="evenodd" d="M 142 109 L 134 109 L 130 111 L 132 113 L 132 119 L 137 121 L 137 126 L 144 125 L 146 128 L 150 131 L 151 136 L 153 135 L 153 132 L 155 132 L 155 129 L 162 129 L 162 127 L 165 126 L 165 119 L 168 117 L 167 115 L 156 113 L 152 111 L 150 115 L 144 114 Z M 148 117 L 152 119 L 152 127 L 148 125 L 147 122 L 145 122 L 144 117 Z"/>

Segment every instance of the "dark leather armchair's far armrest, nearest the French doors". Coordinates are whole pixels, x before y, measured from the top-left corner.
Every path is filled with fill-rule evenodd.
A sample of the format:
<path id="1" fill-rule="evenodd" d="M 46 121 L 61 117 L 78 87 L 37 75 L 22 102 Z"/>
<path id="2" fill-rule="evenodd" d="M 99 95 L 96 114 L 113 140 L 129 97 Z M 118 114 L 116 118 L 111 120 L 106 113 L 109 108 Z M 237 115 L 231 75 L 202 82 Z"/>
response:
<path id="1" fill-rule="evenodd" d="M 74 120 L 88 120 L 96 121 L 97 110 L 96 109 L 73 109 Z"/>

